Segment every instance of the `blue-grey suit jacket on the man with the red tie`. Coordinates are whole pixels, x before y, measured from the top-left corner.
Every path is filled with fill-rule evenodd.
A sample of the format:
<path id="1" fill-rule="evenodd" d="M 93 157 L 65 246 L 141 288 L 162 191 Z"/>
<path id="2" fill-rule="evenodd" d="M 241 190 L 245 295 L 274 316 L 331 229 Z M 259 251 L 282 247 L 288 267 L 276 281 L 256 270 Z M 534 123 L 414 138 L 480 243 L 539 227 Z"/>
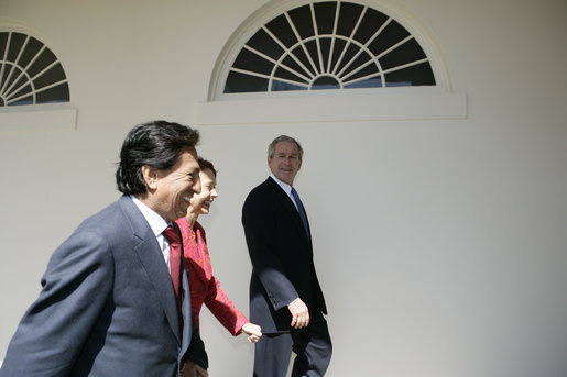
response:
<path id="1" fill-rule="evenodd" d="M 189 291 L 186 275 L 183 287 Z M 188 293 L 183 317 L 179 334 L 160 245 L 140 210 L 122 197 L 55 251 L 0 376 L 174 377 L 194 335 Z M 192 345 L 196 361 L 199 341 Z"/>

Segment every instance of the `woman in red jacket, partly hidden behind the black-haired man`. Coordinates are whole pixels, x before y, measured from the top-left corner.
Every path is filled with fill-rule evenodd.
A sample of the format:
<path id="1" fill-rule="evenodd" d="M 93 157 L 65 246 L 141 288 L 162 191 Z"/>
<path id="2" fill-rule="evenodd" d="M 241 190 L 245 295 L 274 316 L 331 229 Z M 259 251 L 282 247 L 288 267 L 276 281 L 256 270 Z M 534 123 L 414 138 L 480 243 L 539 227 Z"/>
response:
<path id="1" fill-rule="evenodd" d="M 200 193 L 195 193 L 185 218 L 175 222 L 183 237 L 185 267 L 189 271 L 192 313 L 197 326 L 203 303 L 217 320 L 233 335 L 246 333 L 255 343 L 262 336 L 259 325 L 250 323 L 220 288 L 212 276 L 210 256 L 207 248 L 205 230 L 197 222 L 200 214 L 208 214 L 210 204 L 217 198 L 217 171 L 212 163 L 199 157 Z"/>

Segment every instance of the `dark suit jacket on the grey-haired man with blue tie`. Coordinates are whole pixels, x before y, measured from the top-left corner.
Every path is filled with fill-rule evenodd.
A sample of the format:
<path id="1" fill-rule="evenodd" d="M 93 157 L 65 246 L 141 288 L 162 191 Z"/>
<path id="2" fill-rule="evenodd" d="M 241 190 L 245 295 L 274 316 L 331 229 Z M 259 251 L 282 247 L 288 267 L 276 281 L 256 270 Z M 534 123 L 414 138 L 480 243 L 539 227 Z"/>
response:
<path id="1" fill-rule="evenodd" d="M 287 304 L 297 297 L 312 318 L 326 314 L 310 235 L 292 199 L 271 177 L 248 195 L 242 224 L 252 262 L 250 321 L 263 333 L 290 331 Z"/>

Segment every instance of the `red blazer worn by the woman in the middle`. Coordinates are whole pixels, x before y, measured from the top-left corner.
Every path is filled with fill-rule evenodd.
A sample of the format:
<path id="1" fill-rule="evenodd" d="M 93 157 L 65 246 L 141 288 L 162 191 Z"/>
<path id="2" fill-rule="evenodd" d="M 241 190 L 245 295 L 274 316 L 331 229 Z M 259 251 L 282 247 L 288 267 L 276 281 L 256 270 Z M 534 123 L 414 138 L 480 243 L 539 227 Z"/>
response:
<path id="1" fill-rule="evenodd" d="M 195 322 L 199 324 L 200 308 L 205 303 L 232 335 L 238 335 L 242 326 L 250 321 L 235 307 L 220 288 L 220 282 L 212 276 L 205 230 L 198 222 L 195 222 L 192 230 L 185 218 L 175 222 L 183 237 L 185 268 L 189 273 L 190 309 Z"/>

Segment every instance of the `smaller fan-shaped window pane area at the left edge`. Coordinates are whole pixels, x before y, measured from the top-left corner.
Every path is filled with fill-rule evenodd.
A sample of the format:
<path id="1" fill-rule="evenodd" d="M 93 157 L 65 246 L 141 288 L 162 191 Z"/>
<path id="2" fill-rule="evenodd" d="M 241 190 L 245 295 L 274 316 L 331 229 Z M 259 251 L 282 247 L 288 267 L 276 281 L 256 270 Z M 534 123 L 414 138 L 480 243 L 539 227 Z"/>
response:
<path id="1" fill-rule="evenodd" d="M 0 107 L 69 102 L 69 86 L 53 52 L 35 37 L 0 32 Z"/>

